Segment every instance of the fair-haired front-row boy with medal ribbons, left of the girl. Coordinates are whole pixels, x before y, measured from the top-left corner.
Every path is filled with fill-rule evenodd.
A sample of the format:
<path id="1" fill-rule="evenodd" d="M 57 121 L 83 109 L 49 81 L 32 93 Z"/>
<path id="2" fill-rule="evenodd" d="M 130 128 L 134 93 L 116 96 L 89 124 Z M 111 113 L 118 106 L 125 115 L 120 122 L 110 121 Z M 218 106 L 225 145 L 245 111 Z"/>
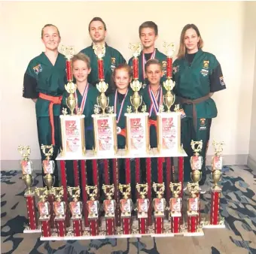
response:
<path id="1" fill-rule="evenodd" d="M 77 85 L 77 89 L 75 91 L 75 98 L 77 98 L 78 102 L 75 107 L 75 113 L 78 112 L 78 108 L 82 114 L 84 114 L 84 135 L 86 142 L 86 149 L 92 150 L 94 146 L 94 135 L 93 135 L 93 118 L 92 114 L 94 105 L 96 104 L 97 96 L 99 95 L 96 87 L 92 86 L 87 81 L 88 74 L 90 74 L 90 59 L 88 56 L 84 55 L 84 53 L 78 53 L 72 58 L 72 66 L 73 66 L 73 75 L 75 77 L 75 83 Z M 66 98 L 69 97 L 68 92 L 64 92 L 62 98 L 62 105 L 66 107 Z M 67 169 L 67 183 L 68 186 L 74 186 L 75 179 L 73 174 L 73 162 L 66 161 L 66 169 Z M 80 177 L 81 179 L 81 177 Z M 87 183 L 92 184 L 92 167 L 91 161 L 87 161 Z"/>

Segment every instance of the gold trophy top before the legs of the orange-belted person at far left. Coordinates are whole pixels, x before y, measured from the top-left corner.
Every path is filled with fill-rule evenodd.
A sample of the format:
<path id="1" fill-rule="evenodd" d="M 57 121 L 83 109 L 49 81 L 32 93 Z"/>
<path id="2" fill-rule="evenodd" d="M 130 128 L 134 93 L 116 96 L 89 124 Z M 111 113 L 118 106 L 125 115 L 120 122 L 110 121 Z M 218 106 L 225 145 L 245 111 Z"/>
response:
<path id="1" fill-rule="evenodd" d="M 50 157 L 53 156 L 53 145 L 51 144 L 50 146 L 45 146 L 41 144 L 41 150 L 44 153 L 44 156 L 46 156 L 46 159 L 44 159 L 43 161 L 43 168 L 45 174 L 44 183 L 50 190 L 55 182 L 55 177 L 52 175 L 55 168 L 55 163 L 53 160 L 50 160 Z"/>

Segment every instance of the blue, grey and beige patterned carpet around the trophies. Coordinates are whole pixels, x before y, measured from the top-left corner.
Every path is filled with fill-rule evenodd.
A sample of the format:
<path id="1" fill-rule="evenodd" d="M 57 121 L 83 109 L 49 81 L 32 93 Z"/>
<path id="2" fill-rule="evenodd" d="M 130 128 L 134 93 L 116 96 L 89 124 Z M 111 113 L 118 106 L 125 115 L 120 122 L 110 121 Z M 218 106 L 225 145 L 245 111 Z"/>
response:
<path id="1" fill-rule="evenodd" d="M 256 172 L 247 166 L 224 167 L 221 215 L 226 228 L 204 229 L 203 237 L 142 237 L 108 240 L 41 241 L 40 234 L 23 234 L 26 223 L 21 171 L 1 171 L 1 252 L 64 254 L 129 253 L 256 253 Z M 36 171 L 35 185 L 41 186 Z M 206 180 L 209 189 L 210 171 Z M 203 195 L 202 211 L 209 213 L 210 192 Z"/>

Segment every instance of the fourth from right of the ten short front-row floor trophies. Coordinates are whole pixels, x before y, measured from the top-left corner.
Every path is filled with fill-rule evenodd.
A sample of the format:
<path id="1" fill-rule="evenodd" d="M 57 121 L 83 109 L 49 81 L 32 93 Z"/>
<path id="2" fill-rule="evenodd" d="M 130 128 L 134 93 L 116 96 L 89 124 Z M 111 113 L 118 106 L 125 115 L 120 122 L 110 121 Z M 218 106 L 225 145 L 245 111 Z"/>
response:
<path id="1" fill-rule="evenodd" d="M 140 198 L 138 198 L 136 202 L 139 234 L 146 234 L 148 231 L 148 209 L 150 206 L 149 199 L 145 198 L 148 194 L 148 183 L 137 183 L 136 189 L 140 195 Z"/>

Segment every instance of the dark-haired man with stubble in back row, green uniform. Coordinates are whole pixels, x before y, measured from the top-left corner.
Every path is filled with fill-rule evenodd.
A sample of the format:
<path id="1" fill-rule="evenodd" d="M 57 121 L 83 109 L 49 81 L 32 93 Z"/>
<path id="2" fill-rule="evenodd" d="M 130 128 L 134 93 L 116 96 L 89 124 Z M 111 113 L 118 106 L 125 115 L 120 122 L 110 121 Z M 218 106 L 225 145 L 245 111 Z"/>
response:
<path id="1" fill-rule="evenodd" d="M 86 47 L 84 50 L 81 50 L 82 53 L 90 57 L 90 64 L 92 71 L 88 77 L 89 83 L 96 85 L 99 82 L 98 77 L 98 59 L 93 50 L 93 45 L 105 45 L 105 56 L 103 57 L 104 62 L 104 76 L 105 83 L 108 83 L 108 90 L 106 94 L 111 92 L 111 74 L 114 71 L 114 68 L 121 63 L 126 62 L 121 53 L 115 50 L 113 47 L 109 47 L 105 43 L 105 36 L 107 34 L 107 28 L 104 21 L 100 17 L 94 17 L 89 24 L 89 34 L 90 38 L 93 41 L 93 44 L 90 47 Z"/>

